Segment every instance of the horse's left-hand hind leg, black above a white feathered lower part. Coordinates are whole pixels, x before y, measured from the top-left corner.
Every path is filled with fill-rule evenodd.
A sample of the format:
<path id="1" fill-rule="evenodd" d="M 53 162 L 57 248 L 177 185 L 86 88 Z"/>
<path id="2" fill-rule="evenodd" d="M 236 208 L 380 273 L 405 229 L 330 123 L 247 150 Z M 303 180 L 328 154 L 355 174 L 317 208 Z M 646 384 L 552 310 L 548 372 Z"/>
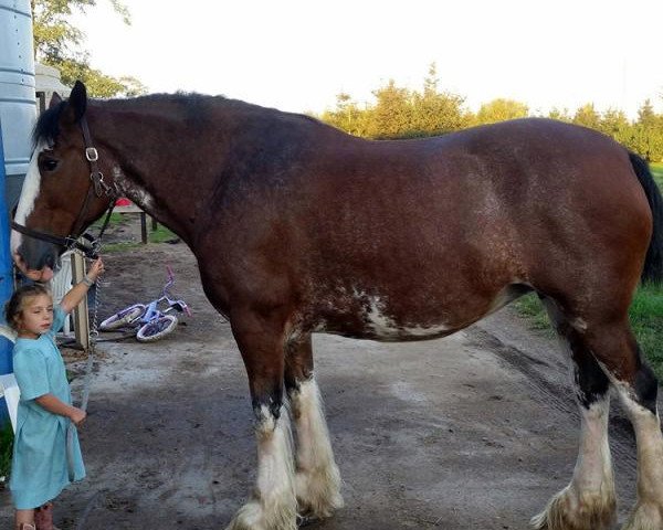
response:
<path id="1" fill-rule="evenodd" d="M 581 330 L 575 329 L 555 303 L 544 304 L 570 352 L 576 401 L 580 411 L 580 448 L 570 484 L 532 519 L 537 530 L 606 530 L 612 528 L 615 495 L 608 414 L 610 382 L 591 353 Z"/>

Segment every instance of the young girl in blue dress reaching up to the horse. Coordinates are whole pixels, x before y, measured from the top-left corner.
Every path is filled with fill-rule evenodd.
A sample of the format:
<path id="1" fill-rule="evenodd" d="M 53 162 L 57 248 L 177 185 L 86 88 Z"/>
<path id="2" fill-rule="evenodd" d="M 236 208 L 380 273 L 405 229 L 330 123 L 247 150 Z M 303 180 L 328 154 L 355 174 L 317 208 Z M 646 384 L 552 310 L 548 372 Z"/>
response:
<path id="1" fill-rule="evenodd" d="M 70 422 L 80 426 L 85 412 L 72 406 L 54 335 L 103 272 L 99 258 L 60 306 L 53 307 L 49 290 L 34 284 L 17 289 L 4 309 L 18 335 L 13 369 L 21 391 L 9 481 L 17 530 L 54 530 L 51 501 L 71 480 L 85 476 L 75 428 L 69 451 L 66 439 Z"/>

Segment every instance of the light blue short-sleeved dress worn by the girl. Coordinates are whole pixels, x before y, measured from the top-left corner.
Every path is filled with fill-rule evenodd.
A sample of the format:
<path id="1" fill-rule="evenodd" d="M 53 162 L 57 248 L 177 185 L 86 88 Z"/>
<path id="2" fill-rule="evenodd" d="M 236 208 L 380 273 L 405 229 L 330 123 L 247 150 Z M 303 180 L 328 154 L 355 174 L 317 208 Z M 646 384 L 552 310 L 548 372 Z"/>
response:
<path id="1" fill-rule="evenodd" d="M 64 361 L 54 337 L 62 329 L 64 318 L 64 311 L 55 306 L 51 329 L 38 339 L 17 339 L 13 348 L 13 369 L 21 400 L 9 488 L 19 510 L 38 508 L 53 500 L 70 484 L 66 430 L 71 421 L 34 401 L 51 393 L 64 403 L 72 403 Z M 81 480 L 85 477 L 85 467 L 78 436 L 76 430 L 73 431 L 70 457 L 74 480 Z"/>

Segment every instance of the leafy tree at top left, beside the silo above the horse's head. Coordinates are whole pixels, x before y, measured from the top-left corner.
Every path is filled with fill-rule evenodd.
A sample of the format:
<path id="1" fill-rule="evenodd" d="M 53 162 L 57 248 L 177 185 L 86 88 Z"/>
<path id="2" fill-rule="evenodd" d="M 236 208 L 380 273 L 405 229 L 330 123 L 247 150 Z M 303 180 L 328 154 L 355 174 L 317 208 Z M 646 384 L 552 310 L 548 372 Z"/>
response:
<path id="1" fill-rule="evenodd" d="M 119 0 L 108 0 L 126 24 L 129 12 Z M 73 85 L 76 80 L 87 85 L 88 93 L 97 97 L 136 95 L 145 93 L 145 86 L 134 77 L 115 78 L 90 65 L 90 56 L 81 51 L 84 33 L 73 25 L 74 10 L 85 11 L 97 0 L 31 0 L 34 55 L 40 63 L 60 70 L 62 82 Z"/>

